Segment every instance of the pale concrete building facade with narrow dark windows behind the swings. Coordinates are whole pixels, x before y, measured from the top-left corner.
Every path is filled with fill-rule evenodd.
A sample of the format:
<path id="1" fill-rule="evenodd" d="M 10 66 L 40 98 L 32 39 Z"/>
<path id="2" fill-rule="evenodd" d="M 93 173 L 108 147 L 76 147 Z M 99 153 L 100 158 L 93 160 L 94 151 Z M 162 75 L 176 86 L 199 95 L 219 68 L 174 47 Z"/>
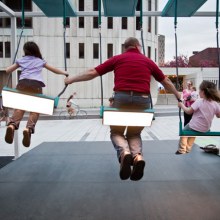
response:
<path id="1" fill-rule="evenodd" d="M 2 0 L 12 10 L 21 11 L 20 0 Z M 73 0 L 76 11 L 98 11 L 98 0 Z M 26 0 L 26 11 L 39 12 L 40 9 L 31 1 Z M 139 3 L 136 10 L 139 11 Z M 156 11 L 157 0 L 143 1 L 143 11 Z M 98 13 L 97 13 L 98 14 Z M 67 18 L 66 28 L 66 64 L 70 75 L 78 74 L 87 68 L 94 67 L 111 56 L 123 52 L 123 43 L 129 36 L 137 37 L 141 41 L 140 17 L 102 17 L 101 23 L 101 54 L 98 17 L 71 17 Z M 42 52 L 44 59 L 51 65 L 64 69 L 64 38 L 63 19 L 33 17 L 26 18 L 25 29 L 21 39 L 17 57 L 23 55 L 22 47 L 26 41 L 35 41 Z M 21 31 L 21 19 L 17 18 L 17 34 Z M 158 62 L 158 37 L 157 17 L 143 17 L 143 38 L 146 55 L 156 63 Z M 1 88 L 5 84 L 7 75 L 5 68 L 12 63 L 13 54 L 10 53 L 11 41 L 10 18 L 1 18 L 0 22 L 0 71 Z M 101 57 L 100 57 L 101 56 Z M 44 93 L 56 96 L 63 88 L 63 76 L 57 76 L 44 70 L 44 80 L 47 87 Z M 93 81 L 69 85 L 61 97 L 61 107 L 73 92 L 77 92 L 77 102 L 83 107 L 98 107 L 101 99 L 100 78 Z M 113 74 L 102 77 L 104 104 L 113 93 Z M 16 74 L 10 81 L 13 87 L 17 83 Z M 152 82 L 152 96 L 154 102 L 157 95 L 157 83 Z"/>

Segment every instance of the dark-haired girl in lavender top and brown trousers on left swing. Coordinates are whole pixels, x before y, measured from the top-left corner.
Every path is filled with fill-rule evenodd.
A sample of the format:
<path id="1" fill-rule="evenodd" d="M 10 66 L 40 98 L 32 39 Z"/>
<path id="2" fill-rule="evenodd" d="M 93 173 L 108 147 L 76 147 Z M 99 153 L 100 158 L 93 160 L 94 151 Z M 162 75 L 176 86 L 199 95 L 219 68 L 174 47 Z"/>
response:
<path id="1" fill-rule="evenodd" d="M 24 56 L 17 59 L 16 62 L 6 69 L 6 73 L 12 73 L 19 67 L 21 68 L 21 75 L 19 82 L 16 86 L 17 90 L 42 94 L 42 87 L 45 87 L 42 77 L 42 69 L 45 67 L 47 70 L 56 74 L 68 76 L 66 71 L 57 69 L 47 64 L 43 60 L 40 49 L 35 42 L 29 41 L 24 44 L 23 47 Z M 31 104 L 31 103 L 30 103 Z M 14 130 L 19 128 L 20 121 L 24 116 L 25 111 L 20 109 L 14 109 L 12 117 L 9 119 L 8 127 L 5 134 L 5 141 L 8 144 L 13 143 Z M 25 147 L 30 146 L 31 134 L 34 133 L 35 125 L 38 121 L 39 113 L 30 112 L 27 121 L 26 128 L 23 131 L 23 145 Z"/>

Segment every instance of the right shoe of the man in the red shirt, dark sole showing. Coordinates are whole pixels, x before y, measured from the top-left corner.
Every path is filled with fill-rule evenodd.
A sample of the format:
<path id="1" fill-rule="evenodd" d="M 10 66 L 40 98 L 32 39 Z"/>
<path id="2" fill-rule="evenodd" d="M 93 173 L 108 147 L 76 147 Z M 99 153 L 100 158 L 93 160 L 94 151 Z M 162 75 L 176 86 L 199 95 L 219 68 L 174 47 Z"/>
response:
<path id="1" fill-rule="evenodd" d="M 143 156 L 140 154 L 136 155 L 133 161 L 133 170 L 130 179 L 134 181 L 140 180 L 144 175 L 144 167 L 145 161 Z"/>

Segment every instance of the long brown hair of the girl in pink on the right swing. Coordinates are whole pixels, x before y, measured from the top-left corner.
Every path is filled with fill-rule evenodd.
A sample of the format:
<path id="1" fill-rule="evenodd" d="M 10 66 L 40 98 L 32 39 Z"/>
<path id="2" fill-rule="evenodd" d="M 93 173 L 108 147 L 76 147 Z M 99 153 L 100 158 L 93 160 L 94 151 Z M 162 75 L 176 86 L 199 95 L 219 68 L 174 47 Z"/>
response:
<path id="1" fill-rule="evenodd" d="M 220 102 L 220 93 L 213 82 L 203 80 L 199 89 L 204 91 L 206 99 Z"/>

